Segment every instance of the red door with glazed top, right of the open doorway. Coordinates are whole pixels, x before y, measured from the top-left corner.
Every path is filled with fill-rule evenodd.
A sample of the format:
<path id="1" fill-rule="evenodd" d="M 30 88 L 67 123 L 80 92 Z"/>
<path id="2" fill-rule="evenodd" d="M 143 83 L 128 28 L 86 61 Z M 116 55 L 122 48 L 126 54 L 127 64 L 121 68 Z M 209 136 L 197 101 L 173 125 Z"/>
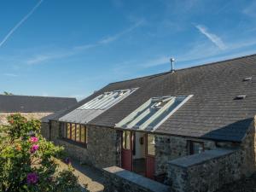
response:
<path id="1" fill-rule="evenodd" d="M 154 135 L 146 134 L 146 177 L 154 179 Z"/>

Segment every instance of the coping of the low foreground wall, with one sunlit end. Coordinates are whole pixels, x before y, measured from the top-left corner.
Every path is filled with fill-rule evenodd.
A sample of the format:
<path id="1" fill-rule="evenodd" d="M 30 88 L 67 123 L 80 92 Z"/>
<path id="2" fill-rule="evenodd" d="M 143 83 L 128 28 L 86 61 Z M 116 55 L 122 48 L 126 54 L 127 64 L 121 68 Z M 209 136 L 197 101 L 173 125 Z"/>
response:
<path id="1" fill-rule="evenodd" d="M 117 177 L 121 177 L 131 183 L 135 183 L 137 185 L 142 186 L 145 189 L 148 189 L 148 191 L 162 191 L 167 192 L 170 191 L 169 186 L 166 186 L 165 184 L 158 183 L 154 180 L 151 180 L 147 177 L 143 177 L 141 175 L 138 175 L 135 172 L 129 172 L 125 169 L 122 169 L 118 166 L 110 166 L 103 169 L 105 172 L 112 173 Z"/>

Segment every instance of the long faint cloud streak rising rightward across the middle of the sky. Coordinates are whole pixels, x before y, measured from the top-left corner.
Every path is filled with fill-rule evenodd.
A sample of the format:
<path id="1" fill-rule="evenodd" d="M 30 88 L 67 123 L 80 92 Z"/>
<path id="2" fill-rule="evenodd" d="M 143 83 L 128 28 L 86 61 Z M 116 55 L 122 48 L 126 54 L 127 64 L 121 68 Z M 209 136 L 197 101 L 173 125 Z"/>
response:
<path id="1" fill-rule="evenodd" d="M 132 32 L 139 26 L 142 26 L 143 22 L 144 22 L 144 20 L 139 20 L 134 25 L 130 26 L 129 28 L 126 28 L 124 31 L 116 33 L 113 36 L 109 36 L 107 38 L 102 38 L 102 40 L 97 41 L 95 44 L 84 44 L 84 45 L 74 46 L 73 48 L 70 48 L 70 49 L 61 50 L 61 51 L 55 52 L 55 53 L 34 55 L 34 56 L 32 56 L 32 58 L 29 58 L 26 60 L 26 64 L 35 65 L 35 64 L 41 63 L 43 61 L 61 59 L 61 58 L 65 58 L 67 56 L 79 54 L 86 49 L 92 49 L 92 48 L 96 48 L 96 47 L 99 47 L 99 46 L 102 46 L 105 44 L 113 43 L 114 41 L 118 40 L 125 34 Z"/>

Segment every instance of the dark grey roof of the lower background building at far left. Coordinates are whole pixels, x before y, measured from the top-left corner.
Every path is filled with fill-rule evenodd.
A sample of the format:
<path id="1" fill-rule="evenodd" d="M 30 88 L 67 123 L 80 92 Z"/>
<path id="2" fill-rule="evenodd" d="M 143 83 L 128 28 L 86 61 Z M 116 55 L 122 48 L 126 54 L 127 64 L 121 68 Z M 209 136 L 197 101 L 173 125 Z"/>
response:
<path id="1" fill-rule="evenodd" d="M 76 103 L 75 98 L 67 97 L 0 95 L 0 112 L 54 113 Z"/>

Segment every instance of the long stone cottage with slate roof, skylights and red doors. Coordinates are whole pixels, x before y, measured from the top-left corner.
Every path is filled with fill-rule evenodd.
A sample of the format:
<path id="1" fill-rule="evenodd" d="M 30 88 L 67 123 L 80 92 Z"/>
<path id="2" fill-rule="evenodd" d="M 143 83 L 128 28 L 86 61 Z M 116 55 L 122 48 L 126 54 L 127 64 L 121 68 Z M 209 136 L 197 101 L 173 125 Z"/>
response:
<path id="1" fill-rule="evenodd" d="M 106 191 L 215 191 L 255 171 L 255 113 L 247 55 L 108 84 L 42 129 L 103 169 Z"/>

